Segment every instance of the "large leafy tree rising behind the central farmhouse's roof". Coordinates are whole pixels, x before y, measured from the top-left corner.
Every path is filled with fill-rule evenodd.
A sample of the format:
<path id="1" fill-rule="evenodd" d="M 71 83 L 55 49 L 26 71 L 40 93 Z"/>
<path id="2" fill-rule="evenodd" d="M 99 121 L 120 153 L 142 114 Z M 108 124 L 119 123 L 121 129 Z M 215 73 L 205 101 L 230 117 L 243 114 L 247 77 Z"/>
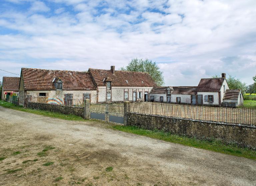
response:
<path id="1" fill-rule="evenodd" d="M 156 62 L 148 59 L 132 59 L 131 62 L 126 67 L 121 67 L 122 71 L 133 71 L 133 72 L 147 72 L 151 78 L 155 81 L 157 86 L 164 85 L 163 72 L 157 66 Z"/>

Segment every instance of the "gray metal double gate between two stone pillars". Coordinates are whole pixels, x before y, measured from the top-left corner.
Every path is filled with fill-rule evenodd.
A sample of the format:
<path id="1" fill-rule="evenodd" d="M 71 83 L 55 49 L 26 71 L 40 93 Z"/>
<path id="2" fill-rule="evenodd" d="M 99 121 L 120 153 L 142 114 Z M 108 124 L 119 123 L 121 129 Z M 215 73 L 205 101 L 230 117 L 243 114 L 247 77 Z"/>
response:
<path id="1" fill-rule="evenodd" d="M 124 124 L 123 104 L 90 104 L 90 118 Z"/>

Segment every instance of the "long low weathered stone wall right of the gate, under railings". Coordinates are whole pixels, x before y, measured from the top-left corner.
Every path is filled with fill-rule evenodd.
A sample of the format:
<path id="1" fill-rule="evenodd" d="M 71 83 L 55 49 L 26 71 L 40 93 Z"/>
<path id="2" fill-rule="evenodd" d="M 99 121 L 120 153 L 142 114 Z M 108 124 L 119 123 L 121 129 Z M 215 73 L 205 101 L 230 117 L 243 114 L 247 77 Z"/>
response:
<path id="1" fill-rule="evenodd" d="M 220 139 L 242 147 L 256 149 L 256 126 L 173 118 L 134 112 L 127 113 L 127 125 L 160 129 L 172 134 L 198 139 Z"/>

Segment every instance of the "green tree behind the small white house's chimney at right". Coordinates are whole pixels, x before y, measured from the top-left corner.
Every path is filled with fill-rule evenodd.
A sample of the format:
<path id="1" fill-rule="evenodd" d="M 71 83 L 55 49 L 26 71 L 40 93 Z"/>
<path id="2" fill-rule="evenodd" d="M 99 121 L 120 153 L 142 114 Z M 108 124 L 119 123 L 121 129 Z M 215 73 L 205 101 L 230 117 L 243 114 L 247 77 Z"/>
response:
<path id="1" fill-rule="evenodd" d="M 212 78 L 220 78 L 218 75 L 212 76 Z M 236 79 L 232 75 L 228 75 L 228 78 L 226 78 L 227 84 L 229 89 L 240 89 L 242 94 L 246 93 L 248 90 L 248 87 L 246 83 L 241 82 L 240 79 Z"/>

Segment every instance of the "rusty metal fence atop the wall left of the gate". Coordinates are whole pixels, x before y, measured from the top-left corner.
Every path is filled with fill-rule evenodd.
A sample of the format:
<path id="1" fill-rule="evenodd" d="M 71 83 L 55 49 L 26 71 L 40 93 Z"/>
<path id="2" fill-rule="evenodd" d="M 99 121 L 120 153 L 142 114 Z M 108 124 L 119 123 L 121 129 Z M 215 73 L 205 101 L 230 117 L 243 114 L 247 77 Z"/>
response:
<path id="1" fill-rule="evenodd" d="M 75 107 L 84 107 L 84 99 L 74 99 L 70 98 L 68 100 L 63 100 L 59 97 L 35 97 L 32 96 L 29 99 L 30 102 L 35 103 L 46 103 L 46 104 L 55 104 L 55 105 L 67 105 L 67 106 L 75 106 Z"/>

